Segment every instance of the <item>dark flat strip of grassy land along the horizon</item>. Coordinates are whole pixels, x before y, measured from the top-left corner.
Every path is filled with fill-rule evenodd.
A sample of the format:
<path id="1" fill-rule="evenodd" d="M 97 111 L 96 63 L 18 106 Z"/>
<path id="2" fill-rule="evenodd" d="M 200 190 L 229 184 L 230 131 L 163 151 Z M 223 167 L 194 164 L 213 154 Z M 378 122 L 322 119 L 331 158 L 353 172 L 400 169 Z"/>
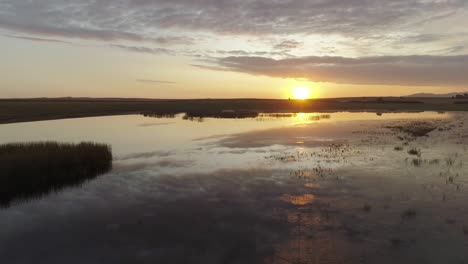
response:
<path id="1" fill-rule="evenodd" d="M 191 113 L 213 116 L 236 113 L 333 112 L 333 111 L 467 111 L 468 104 L 450 98 L 335 98 L 278 99 L 0 99 L 0 124 L 122 114 L 167 115 Z M 464 101 L 463 101 L 464 102 Z"/>

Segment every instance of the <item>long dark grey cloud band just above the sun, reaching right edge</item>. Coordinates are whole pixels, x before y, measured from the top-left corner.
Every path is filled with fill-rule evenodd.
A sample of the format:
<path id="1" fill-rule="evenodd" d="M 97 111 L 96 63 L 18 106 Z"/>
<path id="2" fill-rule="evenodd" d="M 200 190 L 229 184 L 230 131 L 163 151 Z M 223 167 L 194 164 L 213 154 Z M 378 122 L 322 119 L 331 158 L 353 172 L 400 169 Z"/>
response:
<path id="1" fill-rule="evenodd" d="M 218 59 L 215 63 L 216 65 L 207 68 L 279 78 L 305 78 L 314 82 L 414 86 L 468 85 L 468 55 L 299 57 L 281 60 L 264 57 L 226 57 Z"/>

